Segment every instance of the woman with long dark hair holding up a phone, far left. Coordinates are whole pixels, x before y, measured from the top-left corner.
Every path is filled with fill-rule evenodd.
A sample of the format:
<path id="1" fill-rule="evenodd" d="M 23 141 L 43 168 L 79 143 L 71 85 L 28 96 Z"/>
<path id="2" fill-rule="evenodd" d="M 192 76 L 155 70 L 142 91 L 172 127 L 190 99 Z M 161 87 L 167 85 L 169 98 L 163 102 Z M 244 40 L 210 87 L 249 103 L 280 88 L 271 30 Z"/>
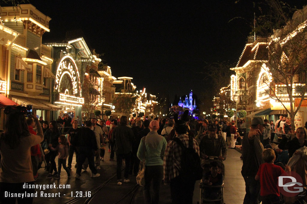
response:
<path id="1" fill-rule="evenodd" d="M 30 148 L 43 141 L 43 131 L 36 115 L 31 115 L 35 122 L 36 134 L 30 134 L 25 121 L 22 106 L 13 107 L 6 117 L 4 133 L 0 134 L 0 202 L 15 203 L 16 197 L 5 197 L 4 192 L 24 193 L 24 184 L 34 185 Z M 34 193 L 34 188 L 26 189 Z M 18 203 L 32 203 L 32 197 L 17 198 Z"/>

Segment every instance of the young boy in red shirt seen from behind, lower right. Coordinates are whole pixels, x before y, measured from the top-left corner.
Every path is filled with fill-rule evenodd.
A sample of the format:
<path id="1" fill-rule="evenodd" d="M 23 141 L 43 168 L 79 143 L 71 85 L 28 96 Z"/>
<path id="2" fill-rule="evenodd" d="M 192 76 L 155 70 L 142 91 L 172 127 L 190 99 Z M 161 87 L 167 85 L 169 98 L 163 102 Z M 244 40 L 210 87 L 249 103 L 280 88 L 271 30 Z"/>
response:
<path id="1" fill-rule="evenodd" d="M 265 163 L 259 166 L 255 180 L 260 180 L 260 196 L 262 204 L 280 203 L 279 190 L 277 186 L 278 176 L 285 171 L 277 165 L 274 165 L 276 159 L 274 150 L 266 149 L 262 152 L 262 158 Z M 286 165 L 288 171 L 290 167 Z"/>

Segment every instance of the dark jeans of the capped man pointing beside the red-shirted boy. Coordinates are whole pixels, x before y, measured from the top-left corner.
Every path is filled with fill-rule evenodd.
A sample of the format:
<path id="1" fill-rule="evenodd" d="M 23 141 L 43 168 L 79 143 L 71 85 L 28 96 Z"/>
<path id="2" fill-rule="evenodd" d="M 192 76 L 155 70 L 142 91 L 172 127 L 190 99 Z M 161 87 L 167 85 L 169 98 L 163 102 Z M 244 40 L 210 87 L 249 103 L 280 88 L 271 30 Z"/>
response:
<path id="1" fill-rule="evenodd" d="M 245 181 L 245 197 L 243 204 L 259 204 L 260 182 L 255 180 L 255 176 L 243 176 Z"/>

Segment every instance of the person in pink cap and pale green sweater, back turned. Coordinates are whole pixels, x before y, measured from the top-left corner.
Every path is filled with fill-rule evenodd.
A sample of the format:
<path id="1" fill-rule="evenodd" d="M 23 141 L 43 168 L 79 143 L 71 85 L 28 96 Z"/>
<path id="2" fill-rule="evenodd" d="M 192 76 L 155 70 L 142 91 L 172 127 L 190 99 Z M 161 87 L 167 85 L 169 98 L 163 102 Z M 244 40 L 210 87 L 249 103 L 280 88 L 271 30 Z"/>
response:
<path id="1" fill-rule="evenodd" d="M 158 121 L 151 121 L 150 132 L 141 139 L 137 156 L 145 160 L 145 186 L 143 196 L 145 203 L 159 203 L 160 187 L 163 179 L 163 157 L 166 147 L 166 139 L 158 135 Z M 150 196 L 150 184 L 153 180 L 153 195 Z"/>

